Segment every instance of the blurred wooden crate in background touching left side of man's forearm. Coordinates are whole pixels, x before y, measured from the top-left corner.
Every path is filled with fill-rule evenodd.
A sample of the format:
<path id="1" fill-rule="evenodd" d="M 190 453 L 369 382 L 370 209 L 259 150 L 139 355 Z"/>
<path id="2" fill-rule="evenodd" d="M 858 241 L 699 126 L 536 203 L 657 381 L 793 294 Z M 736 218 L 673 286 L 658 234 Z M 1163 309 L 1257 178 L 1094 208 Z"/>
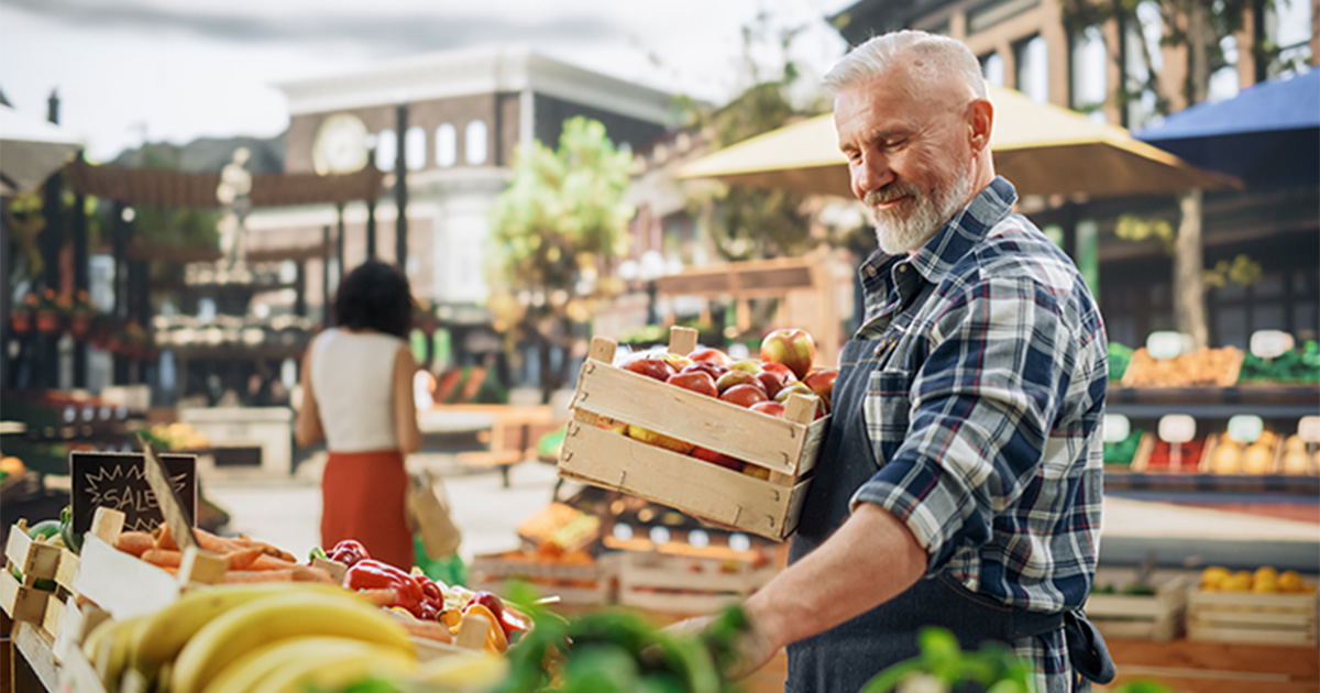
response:
<path id="1" fill-rule="evenodd" d="M 709 614 L 744 599 L 779 574 L 747 561 L 622 552 L 619 603 L 671 614 Z"/>

